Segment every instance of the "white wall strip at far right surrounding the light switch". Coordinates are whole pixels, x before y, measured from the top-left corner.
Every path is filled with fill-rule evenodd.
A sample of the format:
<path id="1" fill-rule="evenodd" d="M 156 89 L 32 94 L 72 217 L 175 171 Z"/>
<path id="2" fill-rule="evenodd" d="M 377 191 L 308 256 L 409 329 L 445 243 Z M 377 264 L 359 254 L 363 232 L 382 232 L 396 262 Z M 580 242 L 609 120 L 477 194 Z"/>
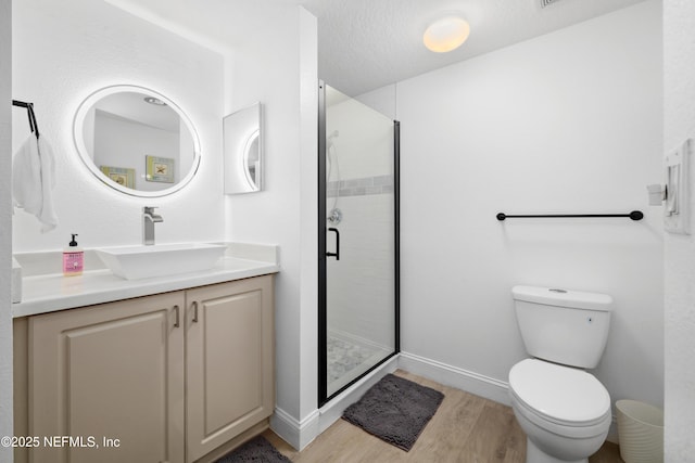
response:
<path id="1" fill-rule="evenodd" d="M 695 139 L 695 2 L 664 2 L 664 152 Z M 695 154 L 691 152 L 691 162 Z M 695 167 L 691 169 L 695 197 Z M 691 204 L 695 217 L 695 202 Z M 691 222 L 694 223 L 694 222 Z M 692 226 L 691 226 L 692 227 Z M 666 233 L 665 461 L 695 454 L 695 240 Z"/>

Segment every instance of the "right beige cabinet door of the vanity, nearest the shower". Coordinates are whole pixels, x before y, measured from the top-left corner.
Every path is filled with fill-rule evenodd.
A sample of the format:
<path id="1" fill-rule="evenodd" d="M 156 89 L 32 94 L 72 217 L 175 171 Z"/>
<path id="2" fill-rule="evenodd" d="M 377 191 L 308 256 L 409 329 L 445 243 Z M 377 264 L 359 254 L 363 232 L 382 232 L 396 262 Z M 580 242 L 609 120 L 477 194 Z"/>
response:
<path id="1" fill-rule="evenodd" d="M 186 293 L 188 461 L 273 413 L 273 276 Z"/>

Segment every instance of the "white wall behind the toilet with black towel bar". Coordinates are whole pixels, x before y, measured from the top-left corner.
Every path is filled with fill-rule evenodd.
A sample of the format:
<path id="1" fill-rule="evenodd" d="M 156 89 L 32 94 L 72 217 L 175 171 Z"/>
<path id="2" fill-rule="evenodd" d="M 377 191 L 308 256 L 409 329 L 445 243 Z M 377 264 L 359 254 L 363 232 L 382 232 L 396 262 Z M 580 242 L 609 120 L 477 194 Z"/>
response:
<path id="1" fill-rule="evenodd" d="M 597 377 L 664 395 L 661 25 L 656 0 L 397 85 L 402 349 L 506 382 L 510 288 L 614 296 Z M 645 219 L 508 219 L 628 213 Z M 692 245 L 692 244 L 691 244 Z"/>

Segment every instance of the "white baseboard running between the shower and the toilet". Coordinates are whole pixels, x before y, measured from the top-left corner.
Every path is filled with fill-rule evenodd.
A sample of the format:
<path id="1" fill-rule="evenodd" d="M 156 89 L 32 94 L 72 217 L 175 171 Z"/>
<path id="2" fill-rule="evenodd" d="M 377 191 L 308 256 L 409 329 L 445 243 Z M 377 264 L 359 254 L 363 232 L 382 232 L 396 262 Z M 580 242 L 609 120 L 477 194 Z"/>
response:
<path id="1" fill-rule="evenodd" d="M 445 386 L 452 386 L 505 406 L 511 406 L 508 393 L 509 384 L 504 381 L 407 352 L 401 352 L 399 368 Z"/>

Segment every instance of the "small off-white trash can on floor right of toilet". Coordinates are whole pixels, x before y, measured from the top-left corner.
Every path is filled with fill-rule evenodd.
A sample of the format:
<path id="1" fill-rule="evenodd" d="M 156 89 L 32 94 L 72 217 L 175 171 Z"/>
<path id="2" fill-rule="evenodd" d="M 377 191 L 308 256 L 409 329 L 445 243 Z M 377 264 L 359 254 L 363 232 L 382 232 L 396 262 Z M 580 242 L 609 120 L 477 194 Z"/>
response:
<path id="1" fill-rule="evenodd" d="M 626 463 L 664 463 L 664 410 L 618 400 L 618 440 Z"/>

